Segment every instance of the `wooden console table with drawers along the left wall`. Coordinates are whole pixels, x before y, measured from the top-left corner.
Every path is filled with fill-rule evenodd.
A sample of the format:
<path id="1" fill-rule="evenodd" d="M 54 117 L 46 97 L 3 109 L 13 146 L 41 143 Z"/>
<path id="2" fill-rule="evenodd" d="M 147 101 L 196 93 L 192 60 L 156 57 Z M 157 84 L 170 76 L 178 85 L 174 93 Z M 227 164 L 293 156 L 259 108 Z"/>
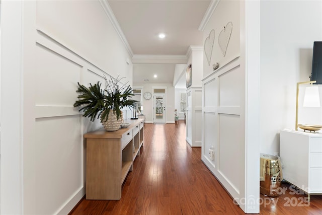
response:
<path id="1" fill-rule="evenodd" d="M 84 134 L 86 138 L 86 199 L 118 200 L 122 184 L 143 145 L 143 120 L 117 131 L 104 129 Z"/>

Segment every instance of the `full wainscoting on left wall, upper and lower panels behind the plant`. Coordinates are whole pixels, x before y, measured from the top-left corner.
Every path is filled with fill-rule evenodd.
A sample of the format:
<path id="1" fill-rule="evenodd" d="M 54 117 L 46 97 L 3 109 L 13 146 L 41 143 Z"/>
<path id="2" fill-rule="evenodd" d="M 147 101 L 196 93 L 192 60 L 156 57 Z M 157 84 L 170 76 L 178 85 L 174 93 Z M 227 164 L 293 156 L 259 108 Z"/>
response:
<path id="1" fill-rule="evenodd" d="M 102 83 L 109 74 L 60 44 L 36 33 L 36 214 L 67 214 L 85 195 L 84 133 L 102 128 L 73 107 L 77 82 Z M 114 77 L 116 78 L 116 77 Z"/>

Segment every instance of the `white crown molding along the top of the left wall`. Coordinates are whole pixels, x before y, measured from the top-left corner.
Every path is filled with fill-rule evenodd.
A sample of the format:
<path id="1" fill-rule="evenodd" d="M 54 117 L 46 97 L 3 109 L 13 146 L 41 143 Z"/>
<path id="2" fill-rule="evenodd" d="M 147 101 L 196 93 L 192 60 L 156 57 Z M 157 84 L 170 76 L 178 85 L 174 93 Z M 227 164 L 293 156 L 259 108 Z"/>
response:
<path id="1" fill-rule="evenodd" d="M 126 50 L 128 51 L 128 53 L 131 55 L 131 57 L 133 57 L 134 53 L 130 47 L 130 44 L 127 42 L 127 39 L 125 37 L 125 35 L 123 34 L 123 31 L 119 25 L 119 23 L 117 22 L 115 15 L 110 7 L 110 5 L 108 4 L 108 2 L 106 0 L 99 0 L 99 2 L 101 3 L 101 6 L 106 14 L 106 16 L 110 19 L 115 31 L 117 32 L 117 34 L 119 35 L 120 39 L 122 40 Z"/>

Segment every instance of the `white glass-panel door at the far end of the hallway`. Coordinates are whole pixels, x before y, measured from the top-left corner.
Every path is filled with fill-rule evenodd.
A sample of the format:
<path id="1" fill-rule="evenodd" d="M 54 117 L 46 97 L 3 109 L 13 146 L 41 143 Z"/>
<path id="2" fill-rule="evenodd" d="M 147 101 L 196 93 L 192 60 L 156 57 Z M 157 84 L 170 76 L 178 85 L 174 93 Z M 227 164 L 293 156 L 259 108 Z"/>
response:
<path id="1" fill-rule="evenodd" d="M 166 94 L 153 94 L 153 123 L 166 123 Z"/>

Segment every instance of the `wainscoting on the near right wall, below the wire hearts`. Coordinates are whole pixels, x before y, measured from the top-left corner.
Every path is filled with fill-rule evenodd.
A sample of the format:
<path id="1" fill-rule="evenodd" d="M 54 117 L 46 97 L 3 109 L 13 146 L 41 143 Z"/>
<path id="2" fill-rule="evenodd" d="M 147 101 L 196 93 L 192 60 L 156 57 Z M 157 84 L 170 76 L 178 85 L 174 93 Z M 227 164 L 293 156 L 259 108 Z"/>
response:
<path id="1" fill-rule="evenodd" d="M 236 199 L 243 198 L 245 177 L 245 73 L 234 58 L 203 80 L 201 160 Z M 244 114 L 244 115 L 243 115 Z M 215 158 L 209 157 L 213 147 Z"/>

